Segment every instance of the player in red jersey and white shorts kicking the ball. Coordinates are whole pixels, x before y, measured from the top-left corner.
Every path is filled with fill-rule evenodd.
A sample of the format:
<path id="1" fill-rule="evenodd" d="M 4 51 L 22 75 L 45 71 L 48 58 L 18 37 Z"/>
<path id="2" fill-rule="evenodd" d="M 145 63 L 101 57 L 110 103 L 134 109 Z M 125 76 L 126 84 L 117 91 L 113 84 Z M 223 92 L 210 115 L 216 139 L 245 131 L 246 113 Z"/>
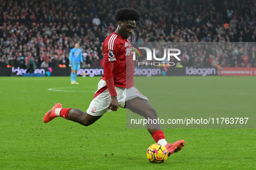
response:
<path id="1" fill-rule="evenodd" d="M 103 44 L 104 75 L 98 83 L 86 113 L 79 109 L 64 109 L 62 104 L 55 104 L 45 113 L 44 122 L 48 123 L 57 116 L 89 126 L 108 112 L 117 111 L 119 107 L 130 109 L 146 119 L 157 119 L 156 110 L 149 104 L 148 98 L 133 87 L 134 61 L 133 47 L 127 38 L 133 33 L 139 13 L 135 9 L 119 9 L 116 14 L 118 26 Z M 159 124 L 147 124 L 149 133 L 156 143 L 164 145 L 170 154 L 178 152 L 185 145 L 184 140 L 167 143 Z"/>

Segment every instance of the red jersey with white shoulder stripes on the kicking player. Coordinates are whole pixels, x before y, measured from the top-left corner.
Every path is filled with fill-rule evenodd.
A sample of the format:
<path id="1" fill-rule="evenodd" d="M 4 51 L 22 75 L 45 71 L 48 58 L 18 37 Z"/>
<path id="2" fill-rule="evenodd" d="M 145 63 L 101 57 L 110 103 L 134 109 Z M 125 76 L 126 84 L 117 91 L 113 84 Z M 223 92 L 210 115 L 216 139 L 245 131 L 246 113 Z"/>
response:
<path id="1" fill-rule="evenodd" d="M 105 39 L 103 52 L 104 63 L 115 62 L 112 72 L 114 85 L 124 88 L 133 87 L 134 61 L 133 47 L 130 42 L 113 32 Z M 102 79 L 105 80 L 104 75 Z"/>

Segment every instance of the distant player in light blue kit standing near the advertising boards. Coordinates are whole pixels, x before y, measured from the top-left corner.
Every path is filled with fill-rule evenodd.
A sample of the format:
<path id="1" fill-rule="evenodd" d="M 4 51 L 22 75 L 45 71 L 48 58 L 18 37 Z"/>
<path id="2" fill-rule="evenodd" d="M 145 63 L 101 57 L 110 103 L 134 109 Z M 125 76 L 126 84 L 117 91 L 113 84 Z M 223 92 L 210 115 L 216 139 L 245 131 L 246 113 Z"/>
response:
<path id="1" fill-rule="evenodd" d="M 69 66 L 71 67 L 71 84 L 79 84 L 76 82 L 76 76 L 78 69 L 80 69 L 80 62 L 83 62 L 82 50 L 78 48 L 79 44 L 75 44 L 75 48 L 70 50 L 69 54 Z"/>

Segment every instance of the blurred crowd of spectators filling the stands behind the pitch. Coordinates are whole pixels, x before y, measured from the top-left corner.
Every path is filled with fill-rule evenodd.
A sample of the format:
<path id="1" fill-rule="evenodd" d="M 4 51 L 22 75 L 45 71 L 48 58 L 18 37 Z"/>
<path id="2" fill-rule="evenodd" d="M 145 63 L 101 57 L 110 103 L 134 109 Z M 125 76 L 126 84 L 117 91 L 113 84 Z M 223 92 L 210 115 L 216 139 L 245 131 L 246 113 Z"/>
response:
<path id="1" fill-rule="evenodd" d="M 244 42 L 189 46 L 176 66 L 256 66 L 255 0 L 0 0 L 0 67 L 26 68 L 29 59 L 65 67 L 77 42 L 82 67 L 102 66 L 102 44 L 124 7 L 141 14 L 131 42 Z"/>

